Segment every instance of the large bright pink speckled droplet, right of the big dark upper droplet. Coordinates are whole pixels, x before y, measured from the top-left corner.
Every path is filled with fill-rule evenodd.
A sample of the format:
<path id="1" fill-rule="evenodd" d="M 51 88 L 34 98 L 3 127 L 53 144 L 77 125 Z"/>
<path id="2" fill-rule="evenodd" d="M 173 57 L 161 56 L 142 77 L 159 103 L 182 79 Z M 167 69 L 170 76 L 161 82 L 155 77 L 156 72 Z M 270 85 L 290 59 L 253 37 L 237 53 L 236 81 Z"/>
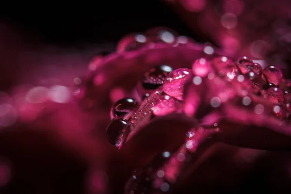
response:
<path id="1" fill-rule="evenodd" d="M 191 69 L 180 68 L 172 71 L 165 79 L 163 91 L 171 97 L 183 100 L 184 87 L 186 82 L 192 80 L 193 73 Z"/>

